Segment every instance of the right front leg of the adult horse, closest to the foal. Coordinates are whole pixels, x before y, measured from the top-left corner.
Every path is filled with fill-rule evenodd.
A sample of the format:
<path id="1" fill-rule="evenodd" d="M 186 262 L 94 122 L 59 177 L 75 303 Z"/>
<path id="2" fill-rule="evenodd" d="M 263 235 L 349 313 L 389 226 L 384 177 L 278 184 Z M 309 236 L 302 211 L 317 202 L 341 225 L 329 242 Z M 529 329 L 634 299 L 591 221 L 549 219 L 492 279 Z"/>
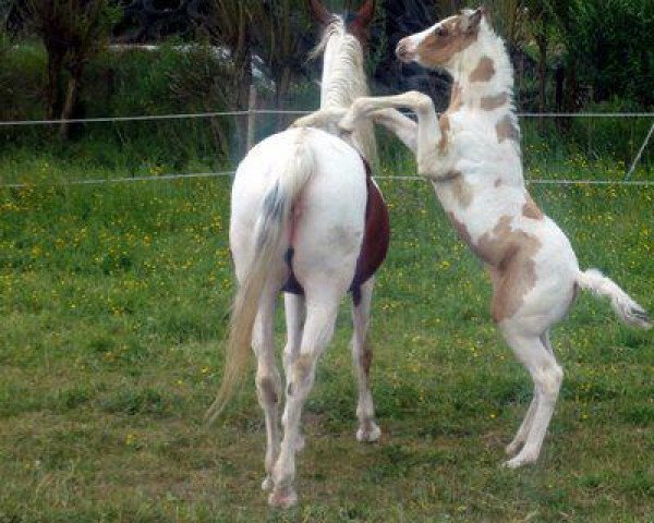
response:
<path id="1" fill-rule="evenodd" d="M 370 374 L 373 363 L 373 349 L 368 340 L 371 324 L 371 302 L 373 297 L 374 279 L 371 278 L 361 287 L 361 301 L 353 306 L 352 319 L 354 333 L 352 335 L 352 360 L 359 381 L 359 402 L 356 417 L 359 418 L 359 441 L 376 441 L 382 430 L 375 423 L 375 406 L 371 392 Z"/>

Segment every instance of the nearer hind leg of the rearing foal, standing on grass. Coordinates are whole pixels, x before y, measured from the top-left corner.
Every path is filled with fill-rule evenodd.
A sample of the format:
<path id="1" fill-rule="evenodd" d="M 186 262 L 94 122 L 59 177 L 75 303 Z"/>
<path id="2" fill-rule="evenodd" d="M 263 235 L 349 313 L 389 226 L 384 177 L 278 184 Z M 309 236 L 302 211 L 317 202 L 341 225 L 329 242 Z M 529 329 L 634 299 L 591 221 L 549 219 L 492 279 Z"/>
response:
<path id="1" fill-rule="evenodd" d="M 557 364 L 548 343 L 544 342 L 543 337 L 525 333 L 521 329 L 519 320 L 506 320 L 501 325 L 501 331 L 518 360 L 531 374 L 535 388 L 535 405 L 533 413 L 531 413 L 531 416 L 533 416 L 531 424 L 529 419 L 525 419 L 523 422 L 524 427 L 520 427 L 516 437 L 516 439 L 519 439 L 520 436 L 520 439 L 522 439 L 524 435 L 520 433 L 529 430 L 524 437 L 524 447 L 518 455 L 506 462 L 507 466 L 514 469 L 534 463 L 538 459 L 564 379 L 564 372 Z M 528 411 L 525 418 L 529 416 L 530 412 Z"/>

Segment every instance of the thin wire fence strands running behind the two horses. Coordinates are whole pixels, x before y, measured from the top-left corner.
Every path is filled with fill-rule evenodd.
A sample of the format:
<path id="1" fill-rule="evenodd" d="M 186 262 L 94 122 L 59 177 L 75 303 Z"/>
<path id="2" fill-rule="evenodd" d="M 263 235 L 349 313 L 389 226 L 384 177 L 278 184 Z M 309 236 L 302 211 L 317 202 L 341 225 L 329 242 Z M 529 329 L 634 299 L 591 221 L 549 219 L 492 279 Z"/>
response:
<path id="1" fill-rule="evenodd" d="M 97 117 L 97 118 L 81 118 L 68 120 L 9 120 L 0 121 L 0 127 L 11 126 L 37 126 L 37 125 L 61 125 L 61 124 L 78 124 L 78 123 L 118 123 L 118 122 L 147 122 L 147 121 L 171 121 L 171 120 L 196 120 L 219 117 L 247 117 L 254 118 L 258 114 L 287 114 L 287 115 L 303 115 L 310 114 L 312 111 L 306 110 L 278 110 L 278 109 L 249 109 L 234 111 L 209 111 L 195 113 L 170 113 L 170 114 L 138 114 L 128 117 Z M 622 180 L 570 180 L 570 179 L 533 179 L 526 180 L 528 184 L 550 184 L 550 185 L 631 185 L 631 186 L 651 186 L 654 181 L 632 181 L 630 180 L 638 163 L 641 161 L 644 150 L 650 144 L 654 135 L 654 112 L 521 112 L 519 118 L 524 119 L 554 119 L 554 118 L 580 118 L 580 119 L 652 119 L 652 125 L 644 137 L 635 157 L 630 162 L 630 167 Z M 201 178 L 231 178 L 235 171 L 217 171 L 217 172 L 195 172 L 195 173 L 172 173 L 159 175 L 124 175 L 112 179 L 84 179 L 84 180 L 64 180 L 53 182 L 53 185 L 99 185 L 99 184 L 117 184 L 130 182 L 150 182 L 166 180 L 184 180 L 184 179 L 201 179 Z M 378 175 L 376 180 L 397 180 L 397 181 L 417 181 L 424 180 L 416 175 Z M 0 184 L 0 188 L 21 188 L 32 186 L 31 183 L 7 183 Z"/>

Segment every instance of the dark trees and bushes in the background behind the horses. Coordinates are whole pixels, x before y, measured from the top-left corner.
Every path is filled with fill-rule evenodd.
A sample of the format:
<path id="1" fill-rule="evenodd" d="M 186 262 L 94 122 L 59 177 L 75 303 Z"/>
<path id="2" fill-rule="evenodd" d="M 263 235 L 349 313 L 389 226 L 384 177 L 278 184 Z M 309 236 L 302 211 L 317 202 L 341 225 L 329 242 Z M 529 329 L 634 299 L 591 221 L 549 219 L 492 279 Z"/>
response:
<path id="1" fill-rule="evenodd" d="M 143 5 L 146 3 L 150 5 L 149 2 Z M 335 11 L 358 7 L 356 2 L 337 0 L 325 3 Z M 493 0 L 488 3 L 494 25 L 507 39 L 513 58 L 521 111 L 643 112 L 652 109 L 652 2 Z M 0 13 L 13 15 L 3 24 L 4 29 L 11 31 L 4 31 L 0 37 L 0 56 L 3 57 L 0 61 L 0 120 L 244 109 L 251 84 L 257 87 L 259 107 L 316 107 L 317 88 L 313 82 L 317 76 L 316 64 L 306 62 L 305 57 L 317 31 L 308 20 L 303 0 L 160 2 L 157 4 L 160 12 L 187 20 L 184 31 L 175 33 L 172 26 L 159 32 L 161 40 L 155 41 L 152 37 L 146 40 L 161 45 L 154 51 L 105 46 L 110 40 L 129 40 L 130 35 L 137 35 L 138 41 L 143 41 L 146 37 L 138 35 L 148 34 L 130 33 L 125 28 L 126 14 L 121 19 L 121 13 L 132 11 L 121 11 L 124 3 L 5 0 L 3 4 L 4 9 L 0 4 Z M 17 4 L 25 7 L 9 8 Z M 132 4 L 141 5 L 140 2 Z M 185 10 L 164 9 L 178 4 Z M 59 10 L 55 9 L 57 16 L 48 14 L 48 5 L 50 10 L 51 5 L 59 5 Z M 401 36 L 463 5 L 464 2 L 459 1 L 377 2 L 368 52 L 373 92 L 424 88 L 443 107 L 447 102 L 449 81 L 438 73 L 399 69 L 392 50 Z M 20 24 L 15 13 L 21 14 Z M 279 118 L 261 120 L 259 136 L 287 123 Z M 117 124 L 104 125 L 101 131 L 95 124 L 77 125 L 77 129 L 61 126 L 61 136 L 70 134 L 70 141 L 63 145 L 53 133 L 44 130 L 3 127 L 2 133 L 5 143 L 33 147 L 36 139 L 39 147 L 47 145 L 58 155 L 69 156 L 75 150 L 75 142 L 89 137 L 120 147 L 160 148 L 161 154 L 179 147 L 186 149 L 190 156 L 213 155 L 216 162 L 222 163 L 242 156 L 243 119 L 214 119 L 209 125 L 195 123 Z M 534 125 L 537 133 L 534 138 L 564 147 L 568 154 L 579 151 L 591 159 L 611 157 L 629 163 L 650 123 L 646 119 L 591 122 L 543 119 L 537 127 Z M 197 150 L 190 150 L 194 147 Z M 645 169 L 650 169 L 651 159 L 649 149 Z"/>

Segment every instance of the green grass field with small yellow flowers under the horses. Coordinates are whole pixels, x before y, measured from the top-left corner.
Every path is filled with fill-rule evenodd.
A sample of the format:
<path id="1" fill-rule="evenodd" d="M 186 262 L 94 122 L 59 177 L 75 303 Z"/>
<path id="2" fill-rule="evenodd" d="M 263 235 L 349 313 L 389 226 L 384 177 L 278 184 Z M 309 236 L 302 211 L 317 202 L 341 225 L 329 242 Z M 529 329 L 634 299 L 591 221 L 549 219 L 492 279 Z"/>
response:
<path id="1" fill-rule="evenodd" d="M 5 182 L 39 183 L 0 192 L 1 523 L 654 521 L 652 333 L 582 295 L 554 333 L 566 378 L 542 459 L 500 469 L 531 381 L 425 183 L 382 184 L 392 219 L 374 300 L 382 440 L 354 439 L 343 307 L 306 408 L 301 502 L 279 512 L 259 490 L 254 385 L 222 423 L 202 424 L 233 292 L 229 180 L 52 186 L 40 182 L 114 173 L 10 156 Z M 654 309 L 654 187 L 532 193 L 582 267 Z"/>

